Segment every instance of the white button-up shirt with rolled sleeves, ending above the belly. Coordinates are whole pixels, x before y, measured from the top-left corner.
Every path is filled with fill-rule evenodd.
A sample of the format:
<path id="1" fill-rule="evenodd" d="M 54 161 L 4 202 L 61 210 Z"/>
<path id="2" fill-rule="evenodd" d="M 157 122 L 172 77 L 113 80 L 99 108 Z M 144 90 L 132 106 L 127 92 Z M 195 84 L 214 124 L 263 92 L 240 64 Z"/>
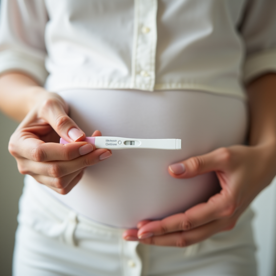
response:
<path id="1" fill-rule="evenodd" d="M 0 73 L 51 91 L 201 90 L 244 97 L 276 71 L 275 0 L 3 0 Z"/>

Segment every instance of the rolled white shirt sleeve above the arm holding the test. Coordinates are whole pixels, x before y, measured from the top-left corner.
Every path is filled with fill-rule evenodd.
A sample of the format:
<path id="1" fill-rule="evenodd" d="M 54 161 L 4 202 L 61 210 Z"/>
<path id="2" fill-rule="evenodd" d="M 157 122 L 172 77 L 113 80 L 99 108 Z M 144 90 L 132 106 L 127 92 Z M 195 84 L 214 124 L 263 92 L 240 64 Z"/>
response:
<path id="1" fill-rule="evenodd" d="M 0 74 L 23 71 L 41 85 L 47 78 L 44 33 L 48 21 L 43 0 L 2 0 Z"/>

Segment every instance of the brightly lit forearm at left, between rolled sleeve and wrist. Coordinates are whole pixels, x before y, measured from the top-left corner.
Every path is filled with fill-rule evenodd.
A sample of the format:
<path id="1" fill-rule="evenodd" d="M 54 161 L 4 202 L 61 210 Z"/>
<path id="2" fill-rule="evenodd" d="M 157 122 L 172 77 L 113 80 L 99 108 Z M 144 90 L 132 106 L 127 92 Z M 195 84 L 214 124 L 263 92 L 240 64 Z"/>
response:
<path id="1" fill-rule="evenodd" d="M 0 109 L 17 121 L 26 116 L 41 93 L 45 89 L 29 75 L 9 72 L 0 76 Z"/>

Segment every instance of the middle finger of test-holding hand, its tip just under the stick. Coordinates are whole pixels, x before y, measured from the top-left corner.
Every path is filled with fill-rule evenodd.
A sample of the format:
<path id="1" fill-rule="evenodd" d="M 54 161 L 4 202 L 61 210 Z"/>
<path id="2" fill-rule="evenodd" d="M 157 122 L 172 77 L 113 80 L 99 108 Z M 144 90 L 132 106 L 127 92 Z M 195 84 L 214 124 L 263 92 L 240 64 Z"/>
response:
<path id="1" fill-rule="evenodd" d="M 19 172 L 22 174 L 39 174 L 54 178 L 60 178 L 67 174 L 76 172 L 87 166 L 94 165 L 102 161 L 112 154 L 105 148 L 96 149 L 84 156 L 80 156 L 70 161 L 50 161 L 50 162 L 34 162 L 25 159 L 18 165 Z"/>

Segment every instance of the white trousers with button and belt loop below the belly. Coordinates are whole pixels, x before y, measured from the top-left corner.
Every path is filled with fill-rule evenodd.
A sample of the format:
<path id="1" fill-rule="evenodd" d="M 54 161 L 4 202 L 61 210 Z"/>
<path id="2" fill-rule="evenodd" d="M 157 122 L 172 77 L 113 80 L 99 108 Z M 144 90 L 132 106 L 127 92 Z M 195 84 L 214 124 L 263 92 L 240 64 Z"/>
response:
<path id="1" fill-rule="evenodd" d="M 124 241 L 124 229 L 91 221 L 39 185 L 20 199 L 14 276 L 254 276 L 255 246 L 248 209 L 234 229 L 186 248 Z"/>

